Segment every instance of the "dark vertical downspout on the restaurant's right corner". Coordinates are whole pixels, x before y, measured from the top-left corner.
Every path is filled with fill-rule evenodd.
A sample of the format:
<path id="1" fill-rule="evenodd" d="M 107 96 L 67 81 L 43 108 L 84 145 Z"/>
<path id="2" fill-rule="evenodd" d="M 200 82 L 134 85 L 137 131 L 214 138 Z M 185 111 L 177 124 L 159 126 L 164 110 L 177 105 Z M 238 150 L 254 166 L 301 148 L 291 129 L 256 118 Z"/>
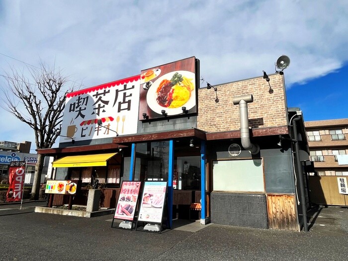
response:
<path id="1" fill-rule="evenodd" d="M 305 196 L 305 189 L 304 189 L 304 184 L 303 184 L 303 174 L 302 174 L 302 168 L 301 168 L 300 153 L 299 153 L 299 146 L 298 146 L 298 139 L 297 139 L 297 126 L 296 126 L 296 121 L 298 121 L 300 119 L 301 119 L 301 116 L 296 117 L 292 120 L 292 122 L 293 122 L 292 130 L 294 133 L 293 135 L 294 135 L 294 140 L 295 140 L 294 144 L 295 144 L 295 154 L 296 154 L 296 165 L 297 165 L 298 180 L 300 183 L 300 191 L 301 191 L 303 229 L 305 232 L 308 232 L 306 196 Z"/>

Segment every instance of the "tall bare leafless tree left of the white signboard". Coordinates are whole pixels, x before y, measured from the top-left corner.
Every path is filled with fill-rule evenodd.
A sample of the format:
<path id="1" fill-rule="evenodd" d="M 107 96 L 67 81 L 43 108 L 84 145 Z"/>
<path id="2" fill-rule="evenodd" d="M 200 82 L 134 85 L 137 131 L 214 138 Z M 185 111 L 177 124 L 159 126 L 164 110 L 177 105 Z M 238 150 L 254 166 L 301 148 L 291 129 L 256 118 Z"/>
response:
<path id="1" fill-rule="evenodd" d="M 40 63 L 40 68 L 27 69 L 28 77 L 15 69 L 3 76 L 7 87 L 2 88 L 1 107 L 34 130 L 36 149 L 51 148 L 60 134 L 66 94 L 76 86 L 55 67 Z M 39 154 L 30 199 L 39 198 L 43 164 Z"/>

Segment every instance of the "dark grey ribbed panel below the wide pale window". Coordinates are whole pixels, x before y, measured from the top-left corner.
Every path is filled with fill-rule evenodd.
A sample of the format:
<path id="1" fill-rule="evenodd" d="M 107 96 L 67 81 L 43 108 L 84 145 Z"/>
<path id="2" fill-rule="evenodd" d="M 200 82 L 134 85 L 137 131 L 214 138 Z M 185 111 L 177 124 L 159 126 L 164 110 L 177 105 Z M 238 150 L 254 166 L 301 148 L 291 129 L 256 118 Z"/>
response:
<path id="1" fill-rule="evenodd" d="M 213 191 L 211 222 L 266 229 L 268 228 L 266 195 Z"/>

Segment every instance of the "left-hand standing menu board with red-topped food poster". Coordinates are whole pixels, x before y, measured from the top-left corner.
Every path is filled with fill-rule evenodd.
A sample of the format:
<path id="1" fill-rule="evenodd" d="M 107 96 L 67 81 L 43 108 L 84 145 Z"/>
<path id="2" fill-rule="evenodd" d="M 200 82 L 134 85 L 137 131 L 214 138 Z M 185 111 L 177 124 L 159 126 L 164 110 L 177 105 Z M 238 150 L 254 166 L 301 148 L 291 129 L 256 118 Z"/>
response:
<path id="1" fill-rule="evenodd" d="M 122 182 L 114 218 L 133 221 L 140 188 L 140 181 Z"/>

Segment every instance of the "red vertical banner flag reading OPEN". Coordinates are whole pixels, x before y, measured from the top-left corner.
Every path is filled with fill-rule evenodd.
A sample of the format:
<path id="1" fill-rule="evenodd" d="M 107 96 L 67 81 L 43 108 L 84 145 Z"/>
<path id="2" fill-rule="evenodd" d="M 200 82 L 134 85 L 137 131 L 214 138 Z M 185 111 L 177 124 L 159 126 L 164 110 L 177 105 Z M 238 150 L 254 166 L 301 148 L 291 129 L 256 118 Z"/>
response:
<path id="1" fill-rule="evenodd" d="M 23 184 L 25 178 L 25 162 L 13 161 L 10 162 L 8 169 L 8 190 L 6 201 L 20 201 L 23 197 Z"/>

